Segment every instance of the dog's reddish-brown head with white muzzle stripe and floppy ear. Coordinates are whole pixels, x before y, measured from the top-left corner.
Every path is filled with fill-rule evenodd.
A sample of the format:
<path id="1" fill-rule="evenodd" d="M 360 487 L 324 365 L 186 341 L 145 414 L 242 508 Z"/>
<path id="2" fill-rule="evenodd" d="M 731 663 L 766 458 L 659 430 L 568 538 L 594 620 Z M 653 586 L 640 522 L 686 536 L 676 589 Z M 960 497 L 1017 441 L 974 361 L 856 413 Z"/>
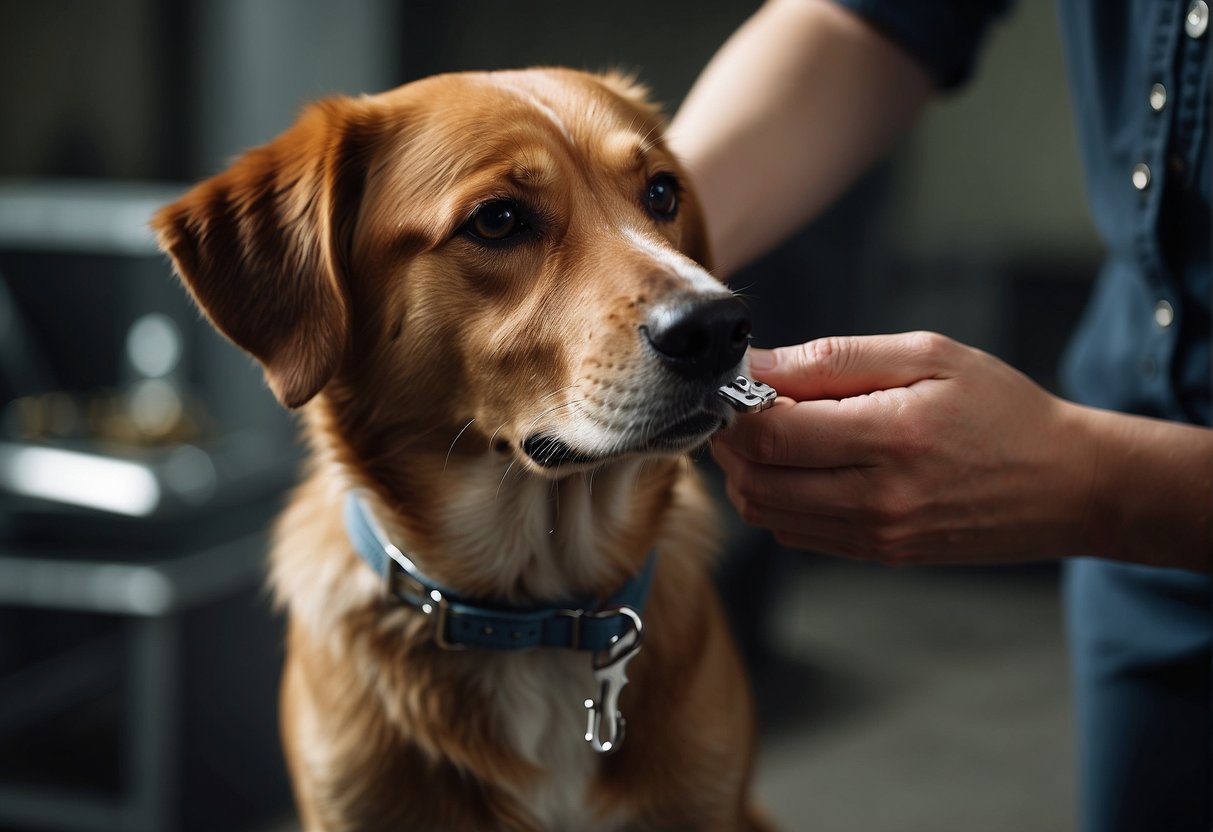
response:
<path id="1" fill-rule="evenodd" d="M 477 452 L 554 475 L 684 451 L 728 418 L 716 388 L 750 319 L 705 268 L 660 116 L 617 76 L 320 102 L 154 226 L 284 405 L 323 391 L 380 448 L 449 454 L 434 428 L 469 426 Z"/>

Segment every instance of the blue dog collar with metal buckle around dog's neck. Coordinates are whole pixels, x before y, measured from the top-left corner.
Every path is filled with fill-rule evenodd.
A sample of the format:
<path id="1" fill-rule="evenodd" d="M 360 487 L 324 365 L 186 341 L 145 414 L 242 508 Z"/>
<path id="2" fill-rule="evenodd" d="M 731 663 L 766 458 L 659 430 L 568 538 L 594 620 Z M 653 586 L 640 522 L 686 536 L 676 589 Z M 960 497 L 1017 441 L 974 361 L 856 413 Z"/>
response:
<path id="1" fill-rule="evenodd" d="M 388 592 L 434 619 L 434 640 L 451 650 L 564 648 L 603 651 L 636 625 L 620 611 L 644 609 L 653 583 L 655 552 L 611 598 L 574 600 L 545 608 L 516 608 L 461 598 L 429 580 L 397 548 L 355 492 L 346 495 L 346 532 L 354 551 L 378 574 Z"/>

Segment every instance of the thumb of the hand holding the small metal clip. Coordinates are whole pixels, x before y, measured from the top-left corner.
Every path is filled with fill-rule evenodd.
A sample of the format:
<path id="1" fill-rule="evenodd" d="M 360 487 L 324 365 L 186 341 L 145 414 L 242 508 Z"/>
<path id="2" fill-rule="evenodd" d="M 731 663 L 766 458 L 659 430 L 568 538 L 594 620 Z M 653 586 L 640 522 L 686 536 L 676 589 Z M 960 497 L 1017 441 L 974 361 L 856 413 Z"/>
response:
<path id="1" fill-rule="evenodd" d="M 963 349 L 935 332 L 835 336 L 751 349 L 750 370 L 780 395 L 798 401 L 843 399 L 952 375 L 950 367 Z"/>

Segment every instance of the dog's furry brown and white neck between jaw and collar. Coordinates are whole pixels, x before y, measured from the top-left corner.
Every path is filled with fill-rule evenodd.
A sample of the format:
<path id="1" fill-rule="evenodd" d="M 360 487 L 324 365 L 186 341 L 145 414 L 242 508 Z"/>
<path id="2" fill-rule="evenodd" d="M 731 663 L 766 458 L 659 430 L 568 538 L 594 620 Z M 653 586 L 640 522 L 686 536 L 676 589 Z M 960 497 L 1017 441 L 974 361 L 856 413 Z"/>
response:
<path id="1" fill-rule="evenodd" d="M 549 479 L 490 449 L 450 452 L 440 431 L 376 458 L 340 433 L 311 434 L 320 465 L 369 492 L 371 512 L 426 575 L 517 604 L 609 595 L 639 571 L 685 465 L 631 458 Z"/>

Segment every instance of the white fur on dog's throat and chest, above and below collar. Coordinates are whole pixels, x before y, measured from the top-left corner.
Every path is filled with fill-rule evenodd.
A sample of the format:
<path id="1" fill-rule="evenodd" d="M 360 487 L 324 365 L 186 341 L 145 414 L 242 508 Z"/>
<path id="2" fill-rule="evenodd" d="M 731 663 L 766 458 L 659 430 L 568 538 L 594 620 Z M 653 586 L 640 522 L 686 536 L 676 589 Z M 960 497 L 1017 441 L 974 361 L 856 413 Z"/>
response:
<path id="1" fill-rule="evenodd" d="M 499 580 L 516 580 L 546 597 L 571 597 L 570 586 L 597 583 L 609 564 L 599 534 L 627 511 L 638 463 L 597 481 L 576 477 L 565 488 L 522 478 L 502 480 L 484 462 L 465 478 L 444 523 L 468 564 L 491 563 Z M 469 472 L 468 472 L 469 473 Z M 514 797 L 542 828 L 609 831 L 622 817 L 588 809 L 599 758 L 583 739 L 583 701 L 597 695 L 591 654 L 537 649 L 486 656 L 483 685 L 513 751 L 545 773 Z"/>

